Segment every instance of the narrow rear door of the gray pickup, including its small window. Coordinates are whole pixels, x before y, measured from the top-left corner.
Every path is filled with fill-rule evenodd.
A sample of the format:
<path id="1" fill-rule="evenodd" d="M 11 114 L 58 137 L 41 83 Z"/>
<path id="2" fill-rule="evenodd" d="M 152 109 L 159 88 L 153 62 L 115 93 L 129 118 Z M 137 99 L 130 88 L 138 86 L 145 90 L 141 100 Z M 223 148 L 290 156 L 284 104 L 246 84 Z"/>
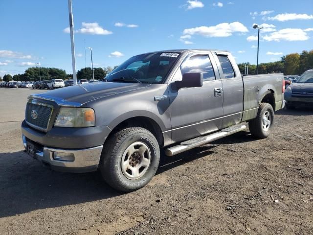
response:
<path id="1" fill-rule="evenodd" d="M 212 53 L 223 84 L 223 128 L 238 124 L 242 119 L 244 84 L 235 59 L 228 52 Z"/>

